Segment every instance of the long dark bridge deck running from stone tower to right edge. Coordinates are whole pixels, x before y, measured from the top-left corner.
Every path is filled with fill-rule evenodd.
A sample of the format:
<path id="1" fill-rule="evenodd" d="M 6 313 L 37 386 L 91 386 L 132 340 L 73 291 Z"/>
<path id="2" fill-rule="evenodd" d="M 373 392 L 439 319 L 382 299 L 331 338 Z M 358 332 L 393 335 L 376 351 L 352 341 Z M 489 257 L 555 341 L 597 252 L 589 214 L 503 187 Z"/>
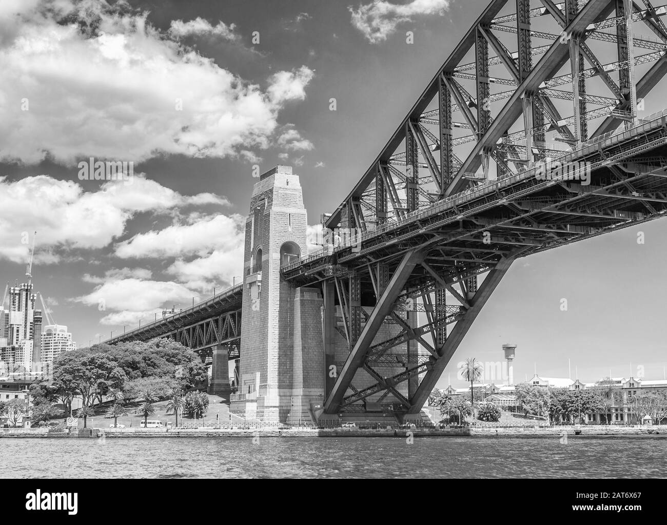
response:
<path id="1" fill-rule="evenodd" d="M 661 111 L 553 159 L 590 162 L 591 185 L 568 181 L 566 175 L 540 180 L 534 165 L 364 231 L 359 242 L 352 239 L 330 253 L 322 250 L 283 266 L 283 278 L 301 286 L 314 284 L 370 262 L 391 264 L 407 249 L 429 244 L 440 249 L 435 264 L 451 259 L 449 266 L 458 266 L 458 272 L 464 263 L 465 271 L 476 274 L 512 249 L 524 256 L 656 218 L 667 204 L 663 195 L 656 196 L 667 191 L 662 171 L 667 167 L 666 119 L 667 110 Z M 649 193 L 653 196 L 644 195 Z"/>

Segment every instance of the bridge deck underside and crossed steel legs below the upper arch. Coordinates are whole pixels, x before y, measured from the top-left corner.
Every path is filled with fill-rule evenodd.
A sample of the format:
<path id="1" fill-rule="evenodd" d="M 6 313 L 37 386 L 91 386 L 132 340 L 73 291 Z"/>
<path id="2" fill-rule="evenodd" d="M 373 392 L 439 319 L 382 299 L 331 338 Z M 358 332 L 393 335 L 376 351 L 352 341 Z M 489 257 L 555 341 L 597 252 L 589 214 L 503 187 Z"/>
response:
<path id="1" fill-rule="evenodd" d="M 321 287 L 327 344 L 333 330 L 348 342 L 346 360 L 329 361 L 336 378 L 327 385 L 325 413 L 365 410 L 364 400 L 374 396 L 394 412 L 418 414 L 514 259 L 662 216 L 664 117 L 607 142 L 573 157 L 590 162 L 589 185 L 541 180 L 526 170 L 461 195 L 442 210 L 434 205 L 412 221 L 372 232 L 360 245 L 283 269 L 295 286 Z M 417 312 L 426 318 L 421 326 Z M 382 340 L 386 324 L 397 330 Z M 398 346 L 403 351 L 397 354 L 392 349 Z M 325 348 L 325 354 L 333 351 Z M 387 367 L 395 373 L 387 376 Z M 358 388 L 362 376 L 367 384 L 368 376 L 374 381 Z"/>

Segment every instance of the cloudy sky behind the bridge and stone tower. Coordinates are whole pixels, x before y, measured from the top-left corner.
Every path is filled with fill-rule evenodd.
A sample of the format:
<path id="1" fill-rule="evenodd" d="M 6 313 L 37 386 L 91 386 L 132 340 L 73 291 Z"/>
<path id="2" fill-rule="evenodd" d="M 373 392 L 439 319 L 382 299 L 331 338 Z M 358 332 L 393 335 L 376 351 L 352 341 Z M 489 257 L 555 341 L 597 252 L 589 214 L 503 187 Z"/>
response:
<path id="1" fill-rule="evenodd" d="M 0 282 L 25 280 L 37 230 L 35 289 L 79 346 L 230 286 L 253 167 L 293 166 L 319 223 L 486 4 L 3 0 Z M 90 157 L 133 177 L 81 180 Z M 666 227 L 516 261 L 439 386 L 508 342 L 515 379 L 662 378 Z"/>

